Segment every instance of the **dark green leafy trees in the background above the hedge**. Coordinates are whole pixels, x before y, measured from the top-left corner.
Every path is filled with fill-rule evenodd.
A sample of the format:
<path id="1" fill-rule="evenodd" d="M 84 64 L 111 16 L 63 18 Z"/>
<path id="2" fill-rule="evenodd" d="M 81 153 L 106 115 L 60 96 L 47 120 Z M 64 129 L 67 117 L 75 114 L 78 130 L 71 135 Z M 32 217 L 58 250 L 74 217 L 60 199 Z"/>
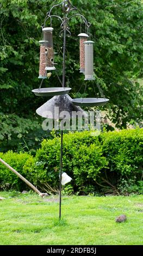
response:
<path id="1" fill-rule="evenodd" d="M 50 135 L 41 130 L 36 108 L 45 99 L 32 94 L 38 88 L 39 44 L 41 24 L 53 3 L 49 0 L 0 0 L 0 150 L 33 151 L 42 138 Z M 128 123 L 141 125 L 143 65 L 143 5 L 140 0 L 73 0 L 91 26 L 95 41 L 95 81 L 87 82 L 79 74 L 80 19 L 70 23 L 71 38 L 67 38 L 66 86 L 71 96 L 103 96 L 110 102 L 104 107 L 116 127 Z M 57 10 L 54 14 L 57 14 Z M 59 9 L 59 15 L 60 15 Z M 49 26 L 49 23 L 46 24 Z M 53 19 L 55 61 L 61 77 L 63 39 L 59 38 L 60 23 Z M 84 32 L 84 26 L 82 27 Z M 57 86 L 55 72 L 44 86 Z M 135 82 L 136 81 L 136 82 Z M 80 89 L 80 90 L 79 90 Z M 78 92 L 79 91 L 79 92 Z M 34 152 L 33 152 L 34 153 Z"/>

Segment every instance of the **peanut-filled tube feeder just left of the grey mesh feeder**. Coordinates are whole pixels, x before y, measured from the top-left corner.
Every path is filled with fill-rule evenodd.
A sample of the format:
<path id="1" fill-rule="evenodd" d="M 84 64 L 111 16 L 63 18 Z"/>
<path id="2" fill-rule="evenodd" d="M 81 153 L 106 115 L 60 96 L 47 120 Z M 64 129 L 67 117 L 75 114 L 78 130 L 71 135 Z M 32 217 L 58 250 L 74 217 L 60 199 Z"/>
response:
<path id="1" fill-rule="evenodd" d="M 84 42 L 88 40 L 88 35 L 85 33 L 80 33 L 79 35 L 80 41 L 80 73 L 85 72 L 85 47 Z"/>

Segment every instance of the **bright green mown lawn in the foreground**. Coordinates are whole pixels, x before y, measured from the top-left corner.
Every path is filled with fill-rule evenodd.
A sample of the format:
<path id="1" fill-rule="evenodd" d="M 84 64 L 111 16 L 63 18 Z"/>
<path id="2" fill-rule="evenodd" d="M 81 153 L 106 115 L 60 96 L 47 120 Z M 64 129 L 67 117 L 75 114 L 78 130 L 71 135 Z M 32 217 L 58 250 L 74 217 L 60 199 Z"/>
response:
<path id="1" fill-rule="evenodd" d="M 143 195 L 58 197 L 0 192 L 0 245 L 143 245 Z M 115 217 L 127 215 L 125 223 Z"/>

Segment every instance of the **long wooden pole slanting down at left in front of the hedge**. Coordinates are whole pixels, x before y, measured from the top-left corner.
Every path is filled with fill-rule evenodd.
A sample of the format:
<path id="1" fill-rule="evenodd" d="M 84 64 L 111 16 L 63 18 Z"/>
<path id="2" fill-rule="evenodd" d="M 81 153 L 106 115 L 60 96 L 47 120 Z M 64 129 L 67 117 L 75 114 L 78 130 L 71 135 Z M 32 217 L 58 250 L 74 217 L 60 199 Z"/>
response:
<path id="1" fill-rule="evenodd" d="M 47 193 L 41 193 L 32 183 L 30 183 L 27 179 L 25 179 L 20 173 L 18 173 L 14 168 L 12 168 L 11 166 L 9 166 L 8 163 L 4 162 L 1 158 L 0 158 L 0 162 L 3 163 L 7 168 L 9 168 L 13 173 L 15 173 L 21 180 L 23 180 L 29 187 L 31 187 L 36 193 L 39 194 L 39 196 L 43 197 L 43 196 L 47 196 Z"/>

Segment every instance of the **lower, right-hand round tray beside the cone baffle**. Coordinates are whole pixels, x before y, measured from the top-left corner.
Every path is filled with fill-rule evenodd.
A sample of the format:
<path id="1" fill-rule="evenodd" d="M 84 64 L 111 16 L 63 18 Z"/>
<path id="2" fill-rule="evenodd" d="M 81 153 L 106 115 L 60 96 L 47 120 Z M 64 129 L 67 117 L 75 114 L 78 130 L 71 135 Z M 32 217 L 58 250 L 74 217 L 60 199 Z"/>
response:
<path id="1" fill-rule="evenodd" d="M 73 99 L 72 103 L 77 106 L 86 106 L 86 107 L 95 107 L 95 106 L 103 106 L 109 100 L 104 98 L 79 98 Z"/>

